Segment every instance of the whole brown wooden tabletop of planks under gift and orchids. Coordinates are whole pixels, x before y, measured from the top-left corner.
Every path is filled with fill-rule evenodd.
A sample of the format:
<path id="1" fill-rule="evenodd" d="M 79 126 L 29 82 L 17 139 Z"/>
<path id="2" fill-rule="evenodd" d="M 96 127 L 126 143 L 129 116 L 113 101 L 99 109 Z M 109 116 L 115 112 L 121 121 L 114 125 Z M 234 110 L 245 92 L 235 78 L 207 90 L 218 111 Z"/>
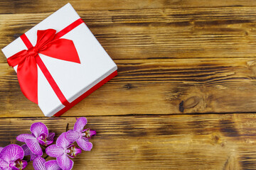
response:
<path id="1" fill-rule="evenodd" d="M 1 147 L 85 116 L 97 135 L 73 169 L 256 169 L 256 1 L 2 0 L 0 48 L 68 2 L 119 74 L 45 118 L 1 52 Z"/>

